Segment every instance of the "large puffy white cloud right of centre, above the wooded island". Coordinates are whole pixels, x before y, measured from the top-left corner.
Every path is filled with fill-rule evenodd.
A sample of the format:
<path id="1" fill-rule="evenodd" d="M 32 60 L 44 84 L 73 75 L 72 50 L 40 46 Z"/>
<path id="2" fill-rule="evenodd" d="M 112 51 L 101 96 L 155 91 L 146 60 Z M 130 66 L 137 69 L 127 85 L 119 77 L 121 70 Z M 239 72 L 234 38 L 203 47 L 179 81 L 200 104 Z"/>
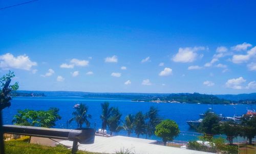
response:
<path id="1" fill-rule="evenodd" d="M 178 53 L 173 57 L 173 61 L 181 62 L 181 63 L 194 62 L 198 57 L 198 54 L 196 52 L 198 50 L 204 50 L 204 49 L 205 47 L 203 46 L 185 47 L 185 48 L 180 47 Z"/>

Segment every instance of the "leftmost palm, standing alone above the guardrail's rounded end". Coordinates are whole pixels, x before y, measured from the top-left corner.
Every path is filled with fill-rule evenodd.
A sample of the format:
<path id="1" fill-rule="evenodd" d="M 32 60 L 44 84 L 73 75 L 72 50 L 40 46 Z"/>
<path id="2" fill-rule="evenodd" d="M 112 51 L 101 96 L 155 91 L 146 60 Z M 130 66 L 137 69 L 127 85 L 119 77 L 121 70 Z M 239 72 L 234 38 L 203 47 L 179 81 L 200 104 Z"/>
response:
<path id="1" fill-rule="evenodd" d="M 90 114 L 87 114 L 88 107 L 84 104 L 80 104 L 79 108 L 76 108 L 76 111 L 72 113 L 74 116 L 69 120 L 69 123 L 71 123 L 73 120 L 77 122 L 77 127 L 81 128 L 83 123 L 86 123 L 87 127 L 90 127 L 90 121 L 89 119 L 92 118 Z"/>

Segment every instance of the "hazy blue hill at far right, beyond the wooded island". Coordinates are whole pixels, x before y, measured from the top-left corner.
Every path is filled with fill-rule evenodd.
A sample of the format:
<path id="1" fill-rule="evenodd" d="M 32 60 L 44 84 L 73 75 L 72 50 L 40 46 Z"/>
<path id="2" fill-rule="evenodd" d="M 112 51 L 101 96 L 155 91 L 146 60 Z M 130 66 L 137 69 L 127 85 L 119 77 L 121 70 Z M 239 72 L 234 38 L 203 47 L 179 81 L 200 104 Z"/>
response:
<path id="1" fill-rule="evenodd" d="M 237 95 L 231 95 L 231 94 L 224 94 L 224 95 L 215 95 L 218 98 L 221 99 L 228 99 L 233 101 L 239 101 L 239 100 L 256 100 L 256 93 L 250 93 L 250 94 L 237 94 Z"/>

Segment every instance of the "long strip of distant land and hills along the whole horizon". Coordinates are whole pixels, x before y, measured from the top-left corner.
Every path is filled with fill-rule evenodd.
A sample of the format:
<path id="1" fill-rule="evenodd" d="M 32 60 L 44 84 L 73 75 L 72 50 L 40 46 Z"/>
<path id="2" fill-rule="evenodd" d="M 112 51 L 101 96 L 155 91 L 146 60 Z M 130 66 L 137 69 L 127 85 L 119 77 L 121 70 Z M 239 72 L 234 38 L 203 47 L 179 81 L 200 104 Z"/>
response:
<path id="1" fill-rule="evenodd" d="M 200 93 L 93 93 L 79 91 L 15 91 L 13 96 L 76 96 L 76 97 L 98 97 L 98 98 L 123 98 L 134 101 L 161 101 L 161 102 L 188 102 L 201 104 L 229 104 L 234 103 L 256 103 L 256 93 L 251 94 L 223 94 L 208 95 Z"/>

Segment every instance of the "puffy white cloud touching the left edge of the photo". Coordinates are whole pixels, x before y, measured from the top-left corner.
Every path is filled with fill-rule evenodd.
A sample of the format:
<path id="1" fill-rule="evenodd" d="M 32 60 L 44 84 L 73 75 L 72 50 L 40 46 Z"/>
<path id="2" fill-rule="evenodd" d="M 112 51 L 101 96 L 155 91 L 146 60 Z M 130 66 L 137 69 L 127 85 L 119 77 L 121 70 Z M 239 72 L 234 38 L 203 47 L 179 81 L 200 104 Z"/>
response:
<path id="1" fill-rule="evenodd" d="M 24 69 L 30 70 L 32 66 L 36 66 L 36 62 L 32 62 L 27 55 L 19 55 L 14 57 L 8 53 L 0 56 L 0 68 L 3 69 Z"/>

